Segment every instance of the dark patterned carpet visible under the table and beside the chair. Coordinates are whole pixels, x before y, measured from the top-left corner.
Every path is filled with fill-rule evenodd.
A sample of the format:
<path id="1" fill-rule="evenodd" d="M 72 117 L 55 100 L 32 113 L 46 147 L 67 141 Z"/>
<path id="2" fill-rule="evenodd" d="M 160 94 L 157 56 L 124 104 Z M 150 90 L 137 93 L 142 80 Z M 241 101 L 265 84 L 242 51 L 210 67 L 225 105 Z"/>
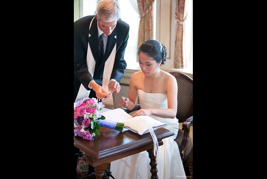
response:
<path id="1" fill-rule="evenodd" d="M 86 163 L 86 156 L 84 155 L 83 157 L 79 157 L 78 158 L 78 163 L 77 163 L 77 173 L 78 173 L 78 177 L 86 179 L 88 176 L 87 170 L 88 170 L 88 164 Z M 189 155 L 189 171 L 191 174 L 191 177 L 189 177 L 190 179 L 193 179 L 193 148 L 191 150 L 191 154 Z M 108 169 L 110 168 L 110 166 L 108 166 Z M 107 177 L 107 179 L 111 177 Z"/>

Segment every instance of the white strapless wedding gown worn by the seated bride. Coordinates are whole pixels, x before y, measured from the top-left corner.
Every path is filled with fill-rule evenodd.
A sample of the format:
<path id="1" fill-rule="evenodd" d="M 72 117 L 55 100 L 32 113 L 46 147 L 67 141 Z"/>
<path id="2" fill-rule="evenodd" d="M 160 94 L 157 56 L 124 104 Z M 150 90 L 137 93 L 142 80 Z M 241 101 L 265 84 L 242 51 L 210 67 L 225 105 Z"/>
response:
<path id="1" fill-rule="evenodd" d="M 141 109 L 155 108 L 167 109 L 167 94 L 162 93 L 146 93 L 141 89 L 137 89 L 140 99 Z M 178 134 L 179 123 L 178 119 L 161 118 L 150 115 L 150 117 L 166 123 L 166 129 L 174 132 L 174 135 L 162 139 L 163 145 L 158 148 L 157 169 L 159 179 L 175 179 L 184 178 L 185 172 L 183 169 L 182 160 L 178 145 L 174 141 Z M 150 158 L 147 151 L 143 151 L 119 160 L 115 160 L 110 164 L 110 171 L 115 179 L 150 179 L 151 166 L 149 165 Z"/>

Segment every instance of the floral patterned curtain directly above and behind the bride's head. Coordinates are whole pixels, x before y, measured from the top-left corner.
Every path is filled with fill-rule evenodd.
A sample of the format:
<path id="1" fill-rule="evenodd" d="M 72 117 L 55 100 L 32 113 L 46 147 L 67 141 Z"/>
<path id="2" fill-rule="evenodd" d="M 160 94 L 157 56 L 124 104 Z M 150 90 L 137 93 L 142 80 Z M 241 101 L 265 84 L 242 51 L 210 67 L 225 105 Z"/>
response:
<path id="1" fill-rule="evenodd" d="M 139 31 L 137 48 L 146 40 L 153 39 L 153 3 L 155 0 L 137 0 L 139 10 Z M 138 62 L 138 56 L 137 56 Z"/>

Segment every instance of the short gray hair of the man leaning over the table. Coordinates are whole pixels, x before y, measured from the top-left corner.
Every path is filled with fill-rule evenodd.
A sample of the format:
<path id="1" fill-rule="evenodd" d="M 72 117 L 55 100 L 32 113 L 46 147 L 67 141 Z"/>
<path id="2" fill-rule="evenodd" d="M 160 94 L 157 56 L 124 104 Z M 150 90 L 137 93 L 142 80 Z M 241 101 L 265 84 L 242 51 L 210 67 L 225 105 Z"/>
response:
<path id="1" fill-rule="evenodd" d="M 120 18 L 120 5 L 116 0 L 99 0 L 96 14 L 99 20 L 105 22 L 118 21 Z"/>

